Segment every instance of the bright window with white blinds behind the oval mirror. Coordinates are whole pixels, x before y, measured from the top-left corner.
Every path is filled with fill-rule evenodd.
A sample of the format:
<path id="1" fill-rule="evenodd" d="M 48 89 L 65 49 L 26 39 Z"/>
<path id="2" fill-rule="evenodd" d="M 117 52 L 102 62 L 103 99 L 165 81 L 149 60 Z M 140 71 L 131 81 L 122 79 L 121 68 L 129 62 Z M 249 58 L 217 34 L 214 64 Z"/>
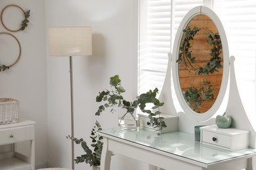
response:
<path id="1" fill-rule="evenodd" d="M 188 10 L 202 3 L 211 6 L 223 22 L 230 55 L 236 57 L 236 80 L 245 111 L 250 120 L 256 121 L 255 0 L 140 0 L 138 93 L 155 87 L 161 90 L 167 69 L 167 54 L 173 48 L 177 28 Z"/>

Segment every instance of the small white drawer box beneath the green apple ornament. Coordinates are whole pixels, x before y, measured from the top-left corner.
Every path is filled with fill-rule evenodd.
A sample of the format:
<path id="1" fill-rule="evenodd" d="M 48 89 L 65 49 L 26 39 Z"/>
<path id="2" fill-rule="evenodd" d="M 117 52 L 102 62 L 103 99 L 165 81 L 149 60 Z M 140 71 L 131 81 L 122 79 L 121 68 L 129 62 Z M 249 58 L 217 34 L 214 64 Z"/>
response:
<path id="1" fill-rule="evenodd" d="M 201 143 L 235 151 L 248 148 L 249 131 L 235 128 L 219 128 L 216 125 L 201 127 Z"/>

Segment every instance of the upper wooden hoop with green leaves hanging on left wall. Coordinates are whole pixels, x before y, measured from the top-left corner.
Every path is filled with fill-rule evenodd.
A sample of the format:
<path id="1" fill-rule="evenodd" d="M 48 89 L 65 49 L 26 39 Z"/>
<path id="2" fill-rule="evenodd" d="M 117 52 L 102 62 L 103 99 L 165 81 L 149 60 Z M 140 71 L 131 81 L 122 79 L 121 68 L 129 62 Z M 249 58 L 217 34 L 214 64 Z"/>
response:
<path id="1" fill-rule="evenodd" d="M 19 29 L 10 29 L 9 27 L 7 27 L 5 25 L 5 23 L 3 22 L 3 12 L 9 8 L 9 7 L 16 7 L 20 10 L 22 10 L 22 12 L 24 13 L 24 20 L 22 21 L 22 24 L 21 24 L 21 27 Z M 11 31 L 11 32 L 17 32 L 17 31 L 23 31 L 27 26 L 28 26 L 28 22 L 30 22 L 28 20 L 28 17 L 30 17 L 30 10 L 28 11 L 25 11 L 24 9 L 22 9 L 20 6 L 18 5 L 7 5 L 1 12 L 1 23 L 3 24 L 3 27 L 5 27 L 5 29 L 7 29 L 8 31 Z"/>

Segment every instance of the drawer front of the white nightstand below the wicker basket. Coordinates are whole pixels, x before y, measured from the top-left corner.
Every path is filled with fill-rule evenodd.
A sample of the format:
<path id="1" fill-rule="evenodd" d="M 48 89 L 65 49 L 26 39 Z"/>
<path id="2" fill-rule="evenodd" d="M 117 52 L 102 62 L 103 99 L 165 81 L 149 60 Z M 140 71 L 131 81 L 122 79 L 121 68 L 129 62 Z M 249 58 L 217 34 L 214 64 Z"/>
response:
<path id="1" fill-rule="evenodd" d="M 0 130 L 0 144 L 16 143 L 19 141 L 28 141 L 34 138 L 33 126 L 14 127 Z"/>

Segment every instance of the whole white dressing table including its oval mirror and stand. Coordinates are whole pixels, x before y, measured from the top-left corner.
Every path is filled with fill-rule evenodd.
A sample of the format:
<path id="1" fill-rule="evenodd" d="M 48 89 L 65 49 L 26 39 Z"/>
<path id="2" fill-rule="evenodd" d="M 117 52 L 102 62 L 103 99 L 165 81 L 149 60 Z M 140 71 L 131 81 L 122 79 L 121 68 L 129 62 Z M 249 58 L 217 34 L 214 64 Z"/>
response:
<path id="1" fill-rule="evenodd" d="M 203 21 L 202 18 L 207 18 L 207 21 Z M 219 88 L 215 89 L 217 95 L 213 97 L 214 102 L 208 109 L 203 111 L 198 110 L 198 107 L 196 108 L 195 105 L 191 106 L 191 103 L 188 104 L 188 101 L 184 97 L 184 87 L 181 84 L 182 81 L 186 80 L 182 80 L 181 78 L 182 65 L 178 60 L 179 56 L 181 56 L 181 48 L 183 48 L 181 44 L 184 42 L 184 29 L 188 29 L 188 25 L 190 24 L 198 24 L 198 26 L 205 30 L 216 29 L 215 31 L 221 37 L 221 45 L 219 47 L 221 46 L 223 49 L 220 53 L 221 67 L 217 68 L 219 69 L 218 72 L 221 73 L 218 73 L 220 78 L 218 80 L 221 83 L 217 84 Z M 213 27 L 209 25 L 213 25 Z M 200 46 L 198 49 L 193 50 L 198 51 Z M 100 169 L 110 170 L 111 156 L 112 152 L 114 152 L 114 154 L 121 154 L 146 162 L 149 164 L 150 170 L 159 168 L 167 170 L 256 170 L 255 130 L 247 118 L 238 93 L 234 74 L 234 57 L 229 56 L 228 41 L 224 27 L 217 14 L 213 10 L 203 6 L 190 10 L 184 16 L 179 26 L 172 53 L 169 54 L 167 74 L 159 99 L 165 103 L 161 112 L 165 115 L 173 116 L 178 121 L 177 127 L 173 127 L 173 130 L 170 129 L 169 132 L 161 133 L 161 135 L 141 125 L 137 131 L 125 131 L 119 127 L 98 131 L 99 135 L 104 137 Z M 194 71 L 198 74 L 198 71 L 193 66 L 188 69 L 189 73 Z M 213 77 L 213 79 L 216 78 Z M 208 80 L 212 79 L 209 78 Z M 226 93 L 228 91 L 226 90 L 228 80 L 230 93 Z M 191 87 L 194 88 L 195 86 L 193 84 Z M 172 87 L 174 87 L 175 92 L 173 92 Z M 174 104 L 173 98 L 179 101 L 182 110 L 177 110 L 177 107 L 175 107 L 177 103 Z M 226 105 L 223 106 L 223 103 L 226 103 Z M 196 104 L 198 105 L 198 103 Z M 210 128 L 209 126 L 215 126 L 215 117 L 223 114 L 223 112 L 226 112 L 226 114 L 232 117 L 231 128 L 227 130 L 215 127 Z M 201 136 L 203 142 L 201 141 L 201 143 L 200 141 L 195 141 L 194 138 L 194 126 L 198 125 L 207 126 L 203 127 L 206 128 L 205 130 L 207 128 L 210 129 L 210 132 L 203 132 L 203 137 Z M 235 133 L 244 134 L 243 137 L 246 138 L 244 140 L 246 143 L 244 144 L 244 141 L 242 141 L 243 144 L 240 146 L 239 140 L 232 140 L 232 135 Z M 213 135 L 211 136 L 209 134 Z M 216 144 L 218 146 L 215 146 L 214 142 L 217 140 L 215 135 L 217 134 L 219 134 L 218 137 L 224 137 L 223 140 L 228 139 L 232 143 L 230 141 L 224 141 L 224 144 L 219 143 Z M 210 137 L 209 140 L 207 137 Z"/>

